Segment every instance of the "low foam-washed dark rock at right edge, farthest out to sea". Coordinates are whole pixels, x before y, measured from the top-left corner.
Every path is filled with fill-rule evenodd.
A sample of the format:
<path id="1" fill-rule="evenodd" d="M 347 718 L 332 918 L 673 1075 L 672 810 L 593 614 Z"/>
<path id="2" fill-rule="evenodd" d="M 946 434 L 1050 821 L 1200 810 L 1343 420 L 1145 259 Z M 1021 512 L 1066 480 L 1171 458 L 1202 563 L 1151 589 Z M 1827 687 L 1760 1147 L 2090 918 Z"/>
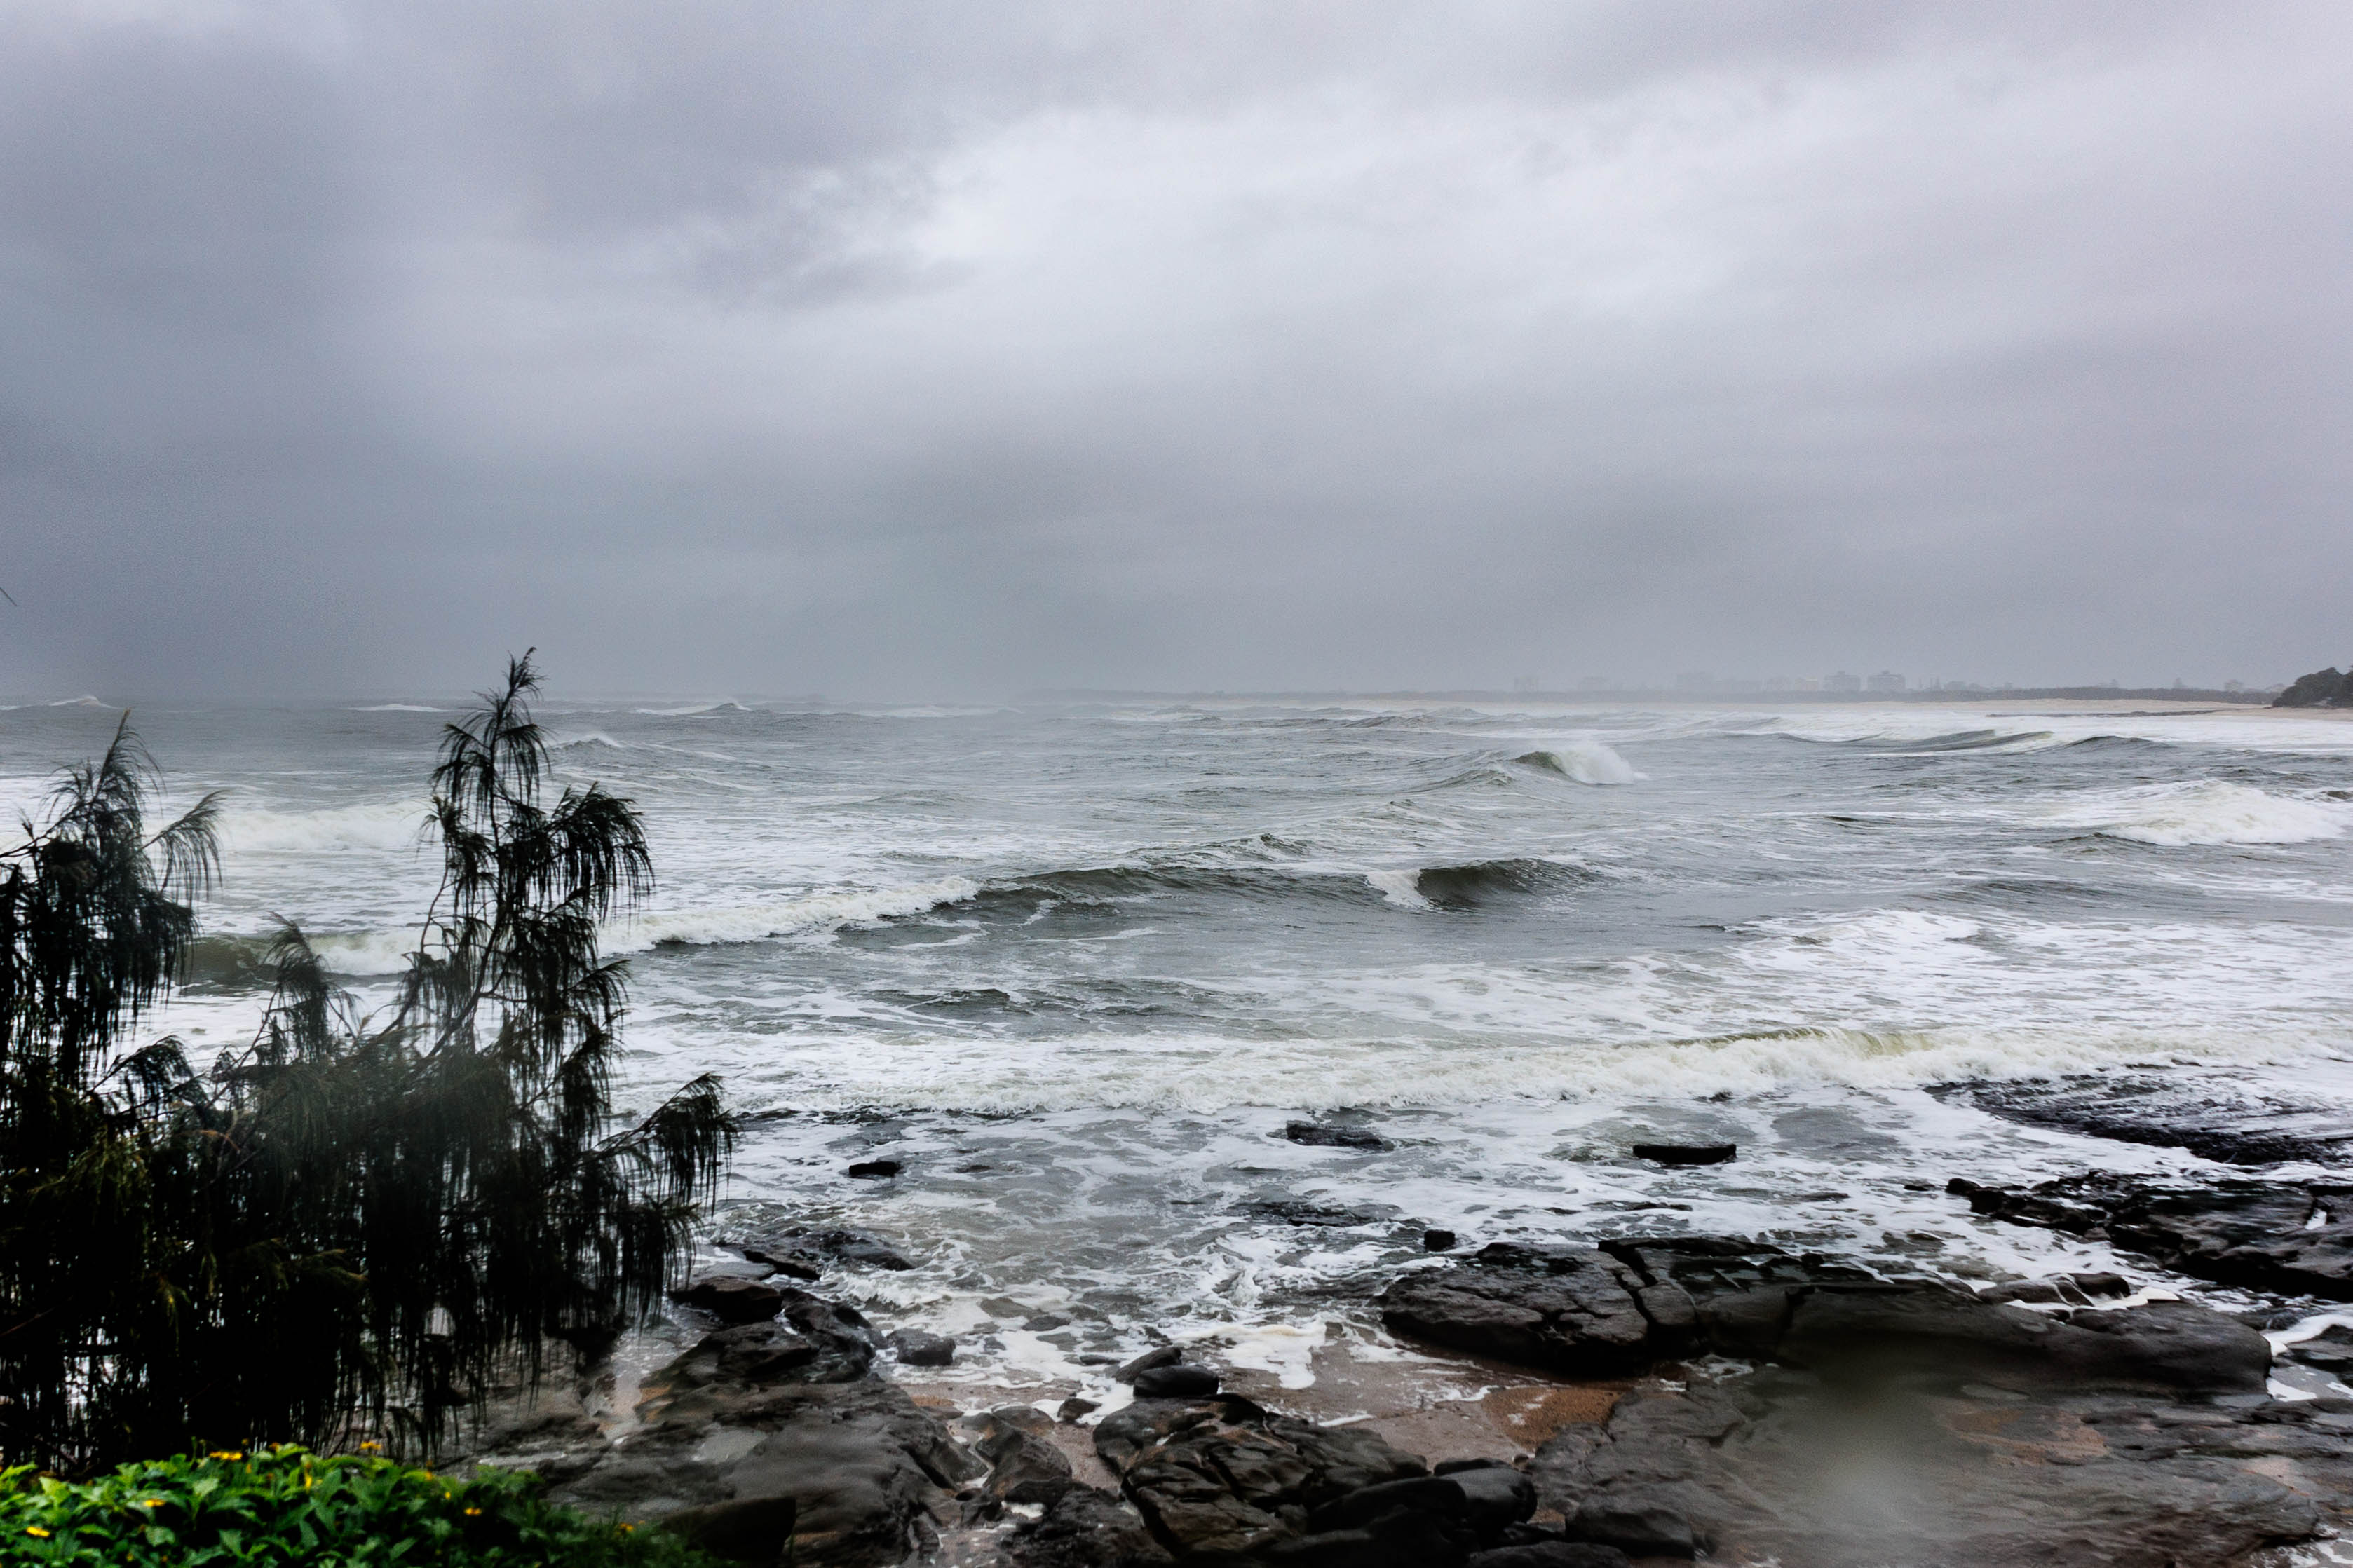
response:
<path id="1" fill-rule="evenodd" d="M 2242 1100 L 2214 1077 L 2078 1074 L 2052 1084 L 1941 1084 L 1932 1093 L 2005 1121 L 2188 1150 L 2228 1166 L 2341 1161 L 2353 1143 L 2334 1110 Z"/>

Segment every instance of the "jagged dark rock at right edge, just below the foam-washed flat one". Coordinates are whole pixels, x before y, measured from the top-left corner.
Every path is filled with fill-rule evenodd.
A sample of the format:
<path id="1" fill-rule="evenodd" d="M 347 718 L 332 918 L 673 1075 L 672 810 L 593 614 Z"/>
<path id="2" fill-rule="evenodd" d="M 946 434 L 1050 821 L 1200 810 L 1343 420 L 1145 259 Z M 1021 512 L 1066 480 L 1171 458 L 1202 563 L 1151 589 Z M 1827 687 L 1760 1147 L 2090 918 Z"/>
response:
<path id="1" fill-rule="evenodd" d="M 2181 1274 L 2280 1295 L 2353 1300 L 2353 1185 L 2224 1180 L 2158 1182 L 2071 1175 L 2035 1187 L 1946 1192 L 2017 1225 L 2104 1232 L 2122 1251 Z"/>

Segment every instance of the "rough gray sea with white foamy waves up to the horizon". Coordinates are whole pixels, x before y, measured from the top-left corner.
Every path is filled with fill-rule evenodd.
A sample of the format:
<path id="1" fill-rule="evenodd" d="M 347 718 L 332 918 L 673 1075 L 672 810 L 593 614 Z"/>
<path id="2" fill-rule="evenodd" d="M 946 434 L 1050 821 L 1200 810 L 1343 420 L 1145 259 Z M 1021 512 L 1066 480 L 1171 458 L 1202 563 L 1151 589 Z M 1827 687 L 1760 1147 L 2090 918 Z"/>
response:
<path id="1" fill-rule="evenodd" d="M 273 914 L 362 997 L 386 983 L 433 889 L 419 825 L 447 717 L 136 715 L 176 797 L 231 792 L 202 978 L 155 1030 L 200 1056 L 242 1039 Z M 661 889 L 607 933 L 633 954 L 624 1098 L 722 1072 L 753 1121 L 715 1232 L 892 1239 L 915 1269 L 835 1286 L 962 1333 L 974 1378 L 1099 1380 L 1151 1326 L 1297 1385 L 1362 1319 L 1351 1281 L 1417 1258 L 1424 1227 L 2111 1267 L 1974 1220 L 1946 1178 L 2209 1166 L 1937 1086 L 2158 1077 L 2353 1107 L 2353 724 L 2327 717 L 541 717 L 567 780 L 652 825 Z M 0 797 L 35 806 L 115 719 L 0 712 Z M 1393 1147 L 1304 1147 L 1294 1119 Z M 1628 1157 L 1640 1138 L 1741 1152 L 1664 1171 Z M 904 1173 L 852 1180 L 856 1159 Z"/>

